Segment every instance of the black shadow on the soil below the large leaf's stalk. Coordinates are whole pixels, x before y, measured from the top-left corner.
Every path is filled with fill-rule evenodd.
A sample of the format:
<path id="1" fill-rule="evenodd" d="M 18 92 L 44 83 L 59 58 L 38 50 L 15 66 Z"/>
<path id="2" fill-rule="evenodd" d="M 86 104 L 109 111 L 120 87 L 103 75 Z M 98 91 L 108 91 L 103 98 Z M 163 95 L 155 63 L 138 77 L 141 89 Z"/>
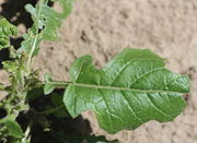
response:
<path id="1" fill-rule="evenodd" d="M 62 97 L 63 93 L 65 90 L 60 88 L 53 92 L 53 94 L 56 94 L 56 96 L 59 95 L 59 97 Z M 39 96 L 36 96 L 36 94 L 39 94 Z M 57 117 L 56 115 L 58 112 L 55 112 L 56 115 L 35 114 L 35 111 L 42 112 L 47 110 L 48 107 L 54 106 L 51 100 L 53 94 L 47 96 L 44 95 L 42 87 L 31 92 L 31 95 L 28 95 L 31 110 L 28 112 L 21 112 L 18 118 L 18 122 L 21 124 L 24 131 L 26 130 L 26 127 L 30 126 L 30 123 L 32 124 L 31 143 L 65 143 L 68 138 L 90 135 L 92 132 L 90 122 L 86 119 L 83 119 L 82 116 L 73 119 L 69 116 L 65 106 L 62 108 L 65 111 L 61 109 L 59 110 L 60 112 L 58 111 L 60 116 L 66 114 L 67 116 L 65 117 Z M 62 100 L 62 98 L 60 100 Z"/>

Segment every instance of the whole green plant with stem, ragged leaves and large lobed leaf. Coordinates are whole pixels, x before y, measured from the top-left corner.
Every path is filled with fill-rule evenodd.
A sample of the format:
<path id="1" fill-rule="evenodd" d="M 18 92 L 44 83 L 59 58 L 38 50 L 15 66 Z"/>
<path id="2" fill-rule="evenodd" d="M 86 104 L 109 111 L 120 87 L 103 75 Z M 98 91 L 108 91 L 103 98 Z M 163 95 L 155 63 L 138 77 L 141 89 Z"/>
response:
<path id="1" fill-rule="evenodd" d="M 38 71 L 32 70 L 32 59 L 38 53 L 42 40 L 58 39 L 58 28 L 70 14 L 73 3 L 72 0 L 53 1 L 62 5 L 61 13 L 50 8 L 48 0 L 40 0 L 35 8 L 25 7 L 34 24 L 23 36 L 18 50 L 10 45 L 9 38 L 16 35 L 16 27 L 0 17 L 0 49 L 8 48 L 11 59 L 2 62 L 10 85 L 0 84 L 0 90 L 8 93 L 0 103 L 0 109 L 4 111 L 0 118 L 1 141 L 31 142 L 34 122 L 42 124 L 43 130 L 50 130 L 45 115 L 76 118 L 92 110 L 102 129 L 116 133 L 134 130 L 149 120 L 171 121 L 183 111 L 185 100 L 182 95 L 189 92 L 189 79 L 166 70 L 165 59 L 148 49 L 126 48 L 102 70 L 92 64 L 92 57 L 83 56 L 71 65 L 71 81 L 54 81 L 49 73 L 40 81 Z M 61 96 L 56 88 L 66 91 Z M 51 104 L 40 111 L 31 103 L 36 103 L 42 94 L 49 96 Z M 28 117 L 24 129 L 18 122 L 21 112 Z M 62 134 L 59 136 L 62 139 Z"/>

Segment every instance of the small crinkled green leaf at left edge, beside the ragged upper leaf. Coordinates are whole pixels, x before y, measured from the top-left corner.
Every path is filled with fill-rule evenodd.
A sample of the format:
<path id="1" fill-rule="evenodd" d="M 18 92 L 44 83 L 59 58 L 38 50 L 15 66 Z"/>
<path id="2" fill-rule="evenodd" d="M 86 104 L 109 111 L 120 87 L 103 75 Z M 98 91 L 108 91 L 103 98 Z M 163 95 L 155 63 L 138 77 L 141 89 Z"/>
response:
<path id="1" fill-rule="evenodd" d="M 10 24 L 7 19 L 0 16 L 0 50 L 10 46 L 10 36 L 15 36 L 18 28 Z"/>

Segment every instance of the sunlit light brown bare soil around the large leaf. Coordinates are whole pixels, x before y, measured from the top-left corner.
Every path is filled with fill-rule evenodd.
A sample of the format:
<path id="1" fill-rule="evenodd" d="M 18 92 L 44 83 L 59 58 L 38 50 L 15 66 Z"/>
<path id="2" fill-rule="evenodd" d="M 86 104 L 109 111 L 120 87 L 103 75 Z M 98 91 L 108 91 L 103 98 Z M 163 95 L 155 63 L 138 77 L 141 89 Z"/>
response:
<path id="1" fill-rule="evenodd" d="M 76 0 L 74 9 L 60 29 L 61 40 L 43 43 L 34 69 L 69 80 L 76 58 L 92 55 L 102 68 L 125 47 L 148 48 L 167 60 L 167 68 L 192 78 L 185 111 L 174 121 L 150 121 L 135 131 L 111 135 L 101 130 L 90 111 L 93 132 L 123 143 L 197 142 L 197 0 Z M 0 81 L 5 82 L 4 72 Z"/>

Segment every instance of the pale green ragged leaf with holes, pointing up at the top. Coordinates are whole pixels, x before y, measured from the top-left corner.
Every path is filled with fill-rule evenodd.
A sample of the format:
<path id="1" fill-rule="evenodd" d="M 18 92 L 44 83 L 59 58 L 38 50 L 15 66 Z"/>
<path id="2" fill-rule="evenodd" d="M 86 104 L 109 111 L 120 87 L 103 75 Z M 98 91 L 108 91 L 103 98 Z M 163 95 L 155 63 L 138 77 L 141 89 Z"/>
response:
<path id="1" fill-rule="evenodd" d="M 62 21 L 70 14 L 73 0 L 53 1 L 61 4 L 61 12 L 57 12 L 50 8 L 48 0 L 40 0 L 35 8 L 32 4 L 25 5 L 26 11 L 32 14 L 34 25 L 24 35 L 24 40 L 19 51 L 36 55 L 42 40 L 58 39 L 58 28 L 61 26 Z"/>

